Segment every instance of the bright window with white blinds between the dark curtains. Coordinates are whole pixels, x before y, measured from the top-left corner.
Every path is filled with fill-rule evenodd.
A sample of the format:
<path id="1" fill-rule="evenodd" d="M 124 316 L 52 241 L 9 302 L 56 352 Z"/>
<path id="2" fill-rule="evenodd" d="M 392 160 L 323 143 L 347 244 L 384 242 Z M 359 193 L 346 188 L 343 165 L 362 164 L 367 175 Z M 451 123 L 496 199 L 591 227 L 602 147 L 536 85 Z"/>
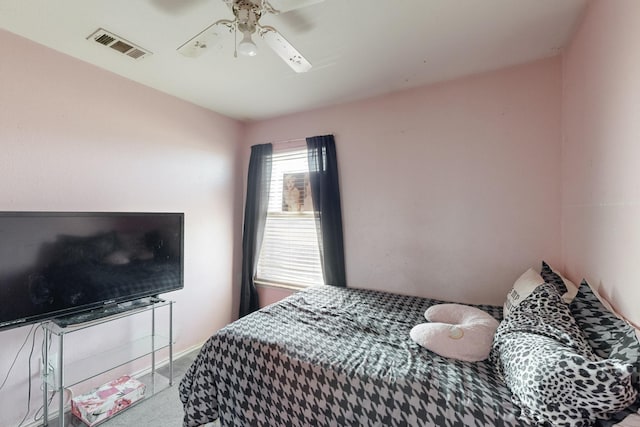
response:
<path id="1" fill-rule="evenodd" d="M 273 153 L 256 283 L 323 285 L 306 148 Z"/>

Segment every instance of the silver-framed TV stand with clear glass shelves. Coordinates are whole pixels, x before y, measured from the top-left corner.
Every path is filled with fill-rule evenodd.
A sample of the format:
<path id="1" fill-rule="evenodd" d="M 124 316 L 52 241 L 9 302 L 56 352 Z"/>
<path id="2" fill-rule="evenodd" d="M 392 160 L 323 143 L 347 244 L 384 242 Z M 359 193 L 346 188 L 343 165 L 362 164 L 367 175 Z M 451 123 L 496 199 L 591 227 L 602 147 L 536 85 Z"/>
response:
<path id="1" fill-rule="evenodd" d="M 52 403 L 51 392 L 55 392 L 58 406 L 58 417 L 55 420 L 56 427 L 72 427 L 78 424 L 77 417 L 71 413 L 65 413 L 67 393 L 65 390 L 78 384 L 89 386 L 89 380 L 105 375 L 109 372 L 122 376 L 122 369 L 126 366 L 132 368 L 132 362 L 149 361 L 151 369 L 148 375 L 138 377 L 146 385 L 145 395 L 151 397 L 157 392 L 173 385 L 173 301 L 163 301 L 158 298 L 147 298 L 131 304 L 120 306 L 123 310 L 118 312 L 115 305 L 109 310 L 100 310 L 93 313 L 93 320 L 88 317 L 67 316 L 62 322 L 73 320 L 84 323 L 74 323 L 69 327 L 60 327 L 54 321 L 43 323 L 43 354 L 42 360 L 46 361 L 42 375 L 42 425 L 51 425 L 49 420 L 49 405 Z M 168 313 L 167 311 L 168 310 Z M 106 313 L 107 317 L 102 316 Z M 76 313 L 81 314 L 81 313 Z M 82 313 L 87 314 L 87 313 Z M 158 318 L 159 314 L 161 319 Z M 71 320 L 70 320 L 71 319 Z M 89 320 L 87 320 L 89 319 Z M 167 335 L 158 334 L 157 321 L 167 320 Z M 150 324 L 144 326 L 146 321 Z M 113 323 L 111 323 L 113 322 Z M 95 326 L 109 325 L 109 329 L 119 329 L 126 332 L 127 325 L 122 322 L 135 324 L 136 333 L 133 336 L 125 334 L 117 342 L 97 343 L 95 336 L 101 332 L 94 330 Z M 124 326 L 124 328 L 123 328 Z M 130 325 L 131 326 L 131 325 Z M 164 328 L 163 328 L 164 329 Z M 144 334 L 147 332 L 147 334 Z M 104 331 L 102 331 L 104 333 Z M 140 335 L 142 333 L 143 335 Z M 74 357 L 73 360 L 65 360 L 65 349 L 73 349 L 74 356 L 85 353 L 80 347 L 88 347 L 82 357 Z M 90 346 L 90 347 L 89 347 Z M 57 348 L 57 351 L 55 350 Z M 53 353 L 51 351 L 54 351 Z M 158 372 L 157 358 L 169 351 L 169 374 Z M 116 371 L 115 369 L 119 369 Z M 100 381 L 102 382 L 102 381 Z"/>

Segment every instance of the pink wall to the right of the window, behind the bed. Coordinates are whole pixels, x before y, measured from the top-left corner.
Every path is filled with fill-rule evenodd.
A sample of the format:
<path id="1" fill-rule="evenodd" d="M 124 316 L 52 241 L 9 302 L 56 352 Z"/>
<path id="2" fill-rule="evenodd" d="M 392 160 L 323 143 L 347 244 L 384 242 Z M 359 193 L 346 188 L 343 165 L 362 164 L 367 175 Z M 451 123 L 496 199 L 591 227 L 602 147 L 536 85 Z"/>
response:
<path id="1" fill-rule="evenodd" d="M 333 133 L 349 286 L 502 304 L 560 265 L 560 117 L 547 59 L 251 123 L 245 164 L 252 144 Z"/>

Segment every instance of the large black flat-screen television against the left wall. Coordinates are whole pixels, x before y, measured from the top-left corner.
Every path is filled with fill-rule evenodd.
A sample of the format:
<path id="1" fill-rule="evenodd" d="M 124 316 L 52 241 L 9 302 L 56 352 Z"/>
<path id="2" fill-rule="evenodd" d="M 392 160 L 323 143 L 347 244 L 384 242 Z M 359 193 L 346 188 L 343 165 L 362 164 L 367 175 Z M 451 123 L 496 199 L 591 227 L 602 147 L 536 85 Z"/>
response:
<path id="1" fill-rule="evenodd" d="M 184 287 L 184 214 L 0 212 L 0 330 Z"/>

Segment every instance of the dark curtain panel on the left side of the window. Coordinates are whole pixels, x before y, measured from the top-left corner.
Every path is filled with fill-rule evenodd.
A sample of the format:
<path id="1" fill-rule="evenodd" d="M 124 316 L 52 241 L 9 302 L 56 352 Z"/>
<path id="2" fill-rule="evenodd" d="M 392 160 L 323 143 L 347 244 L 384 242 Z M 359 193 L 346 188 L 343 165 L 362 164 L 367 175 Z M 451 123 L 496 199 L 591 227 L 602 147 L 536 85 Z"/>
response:
<path id="1" fill-rule="evenodd" d="M 271 144 L 251 147 L 247 176 L 247 199 L 244 208 L 242 233 L 242 284 L 240 288 L 240 317 L 259 308 L 258 291 L 253 282 L 258 256 L 267 221 L 269 185 L 271 183 Z"/>

